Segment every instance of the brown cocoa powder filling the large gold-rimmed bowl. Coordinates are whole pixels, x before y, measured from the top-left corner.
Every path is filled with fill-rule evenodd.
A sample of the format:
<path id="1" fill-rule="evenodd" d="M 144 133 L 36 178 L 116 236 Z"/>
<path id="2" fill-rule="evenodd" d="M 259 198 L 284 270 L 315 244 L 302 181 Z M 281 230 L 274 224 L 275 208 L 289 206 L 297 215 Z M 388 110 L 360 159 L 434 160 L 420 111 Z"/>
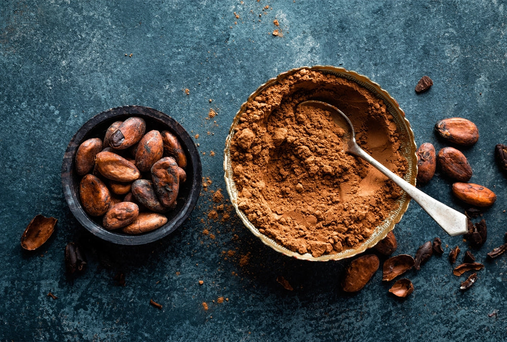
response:
<path id="1" fill-rule="evenodd" d="M 328 111 L 298 107 L 308 99 L 340 108 L 359 145 L 394 173 L 403 176 L 408 163 L 383 101 L 344 78 L 301 69 L 246 104 L 230 150 L 238 207 L 262 234 L 317 257 L 363 243 L 402 193 L 343 150 Z"/>

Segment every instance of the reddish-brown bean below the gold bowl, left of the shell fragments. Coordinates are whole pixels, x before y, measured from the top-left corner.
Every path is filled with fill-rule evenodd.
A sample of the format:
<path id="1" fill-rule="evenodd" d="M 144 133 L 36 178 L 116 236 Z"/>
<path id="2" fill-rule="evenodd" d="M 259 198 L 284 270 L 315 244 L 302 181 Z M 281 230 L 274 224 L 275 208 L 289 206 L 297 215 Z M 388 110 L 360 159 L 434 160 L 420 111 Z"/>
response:
<path id="1" fill-rule="evenodd" d="M 345 292 L 356 292 L 365 287 L 379 268 L 379 258 L 375 254 L 359 256 L 352 260 L 345 271 L 342 288 Z"/>

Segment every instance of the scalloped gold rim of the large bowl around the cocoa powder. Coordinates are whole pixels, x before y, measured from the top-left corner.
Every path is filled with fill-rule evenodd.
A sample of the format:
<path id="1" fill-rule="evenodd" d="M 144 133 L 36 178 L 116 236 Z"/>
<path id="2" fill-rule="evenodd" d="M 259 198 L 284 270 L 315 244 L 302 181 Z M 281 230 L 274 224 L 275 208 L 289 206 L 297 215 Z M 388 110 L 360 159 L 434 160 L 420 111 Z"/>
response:
<path id="1" fill-rule="evenodd" d="M 407 173 L 405 175 L 405 180 L 407 180 L 409 183 L 411 183 L 412 185 L 415 186 L 416 177 L 417 177 L 417 156 L 416 156 L 417 145 L 416 145 L 415 138 L 414 138 L 414 132 L 412 131 L 410 123 L 407 120 L 407 118 L 405 117 L 405 112 L 400 107 L 399 103 L 393 97 L 391 97 L 391 95 L 386 90 L 384 90 L 382 87 L 380 87 L 379 84 L 370 80 L 365 75 L 359 74 L 355 71 L 347 70 L 343 67 L 336 67 L 336 66 L 332 66 L 332 65 L 302 66 L 302 67 L 290 69 L 288 71 L 279 73 L 276 77 L 274 77 L 272 79 L 269 79 L 266 83 L 262 84 L 259 88 L 257 88 L 256 91 L 254 91 L 253 93 L 250 94 L 248 99 L 241 105 L 240 109 L 236 113 L 236 115 L 233 119 L 233 123 L 231 124 L 231 127 L 229 129 L 229 134 L 226 138 L 225 149 L 224 149 L 224 165 L 223 165 L 224 178 L 225 178 L 226 188 L 227 188 L 227 192 L 229 194 L 231 204 L 233 205 L 236 213 L 240 217 L 243 224 L 248 228 L 248 230 L 253 235 L 258 237 L 265 245 L 273 248 L 274 250 L 282 253 L 283 255 L 291 256 L 291 257 L 294 257 L 294 258 L 300 259 L 300 260 L 309 260 L 309 261 L 341 260 L 341 259 L 352 257 L 352 256 L 357 255 L 359 253 L 363 253 L 364 251 L 366 251 L 369 248 L 372 248 L 378 242 L 380 242 L 382 239 L 384 239 L 387 236 L 387 234 L 394 229 L 394 226 L 400 222 L 403 215 L 407 211 L 410 200 L 411 200 L 410 196 L 408 196 L 402 190 L 403 195 L 397 201 L 400 203 L 400 206 L 399 206 L 399 208 L 397 208 L 394 211 L 396 214 L 392 215 L 393 211 L 391 211 L 391 214 L 389 215 L 389 217 L 384 219 L 384 221 L 382 221 L 382 223 L 376 227 L 376 230 L 378 230 L 379 227 L 381 227 L 382 225 L 385 225 L 385 227 L 382 229 L 382 231 L 378 235 L 376 235 L 374 237 L 374 239 L 372 239 L 370 237 L 366 241 L 366 243 L 361 244 L 359 247 L 357 247 L 355 249 L 347 249 L 347 250 L 344 250 L 340 253 L 334 253 L 334 254 L 323 254 L 318 257 L 314 257 L 308 252 L 305 254 L 300 254 L 298 252 L 291 251 L 291 250 L 285 248 L 284 246 L 278 244 L 273 239 L 260 233 L 259 230 L 248 220 L 248 218 L 246 217 L 244 212 L 241 209 L 239 209 L 238 202 L 237 202 L 236 184 L 233 179 L 233 171 L 232 171 L 232 167 L 231 167 L 230 146 L 231 146 L 232 137 L 234 135 L 234 129 L 239 122 L 239 118 L 241 117 L 242 113 L 246 109 L 247 103 L 250 102 L 251 100 L 253 100 L 255 97 L 257 97 L 262 91 L 264 91 L 266 88 L 276 84 L 280 80 L 288 77 L 289 75 L 292 75 L 292 74 L 299 72 L 303 69 L 307 69 L 307 70 L 311 70 L 311 71 L 320 71 L 322 73 L 328 73 L 328 74 L 334 74 L 337 77 L 345 78 L 345 79 L 348 79 L 350 81 L 357 83 L 361 87 L 368 89 L 369 91 L 371 91 L 372 93 L 374 93 L 377 96 L 380 95 L 380 99 L 384 100 L 384 103 L 386 104 L 391 115 L 393 115 L 393 113 L 396 114 L 396 116 L 393 115 L 393 117 L 395 117 L 395 120 L 399 121 L 399 122 L 396 122 L 397 125 L 402 124 L 404 130 L 406 131 L 406 133 L 408 135 L 407 136 L 407 144 L 410 145 L 410 151 L 407 150 L 404 155 L 405 155 L 405 157 L 410 157 L 410 160 L 407 160 L 407 162 L 409 163 L 409 167 L 408 167 Z M 388 222 L 388 224 L 386 224 L 387 220 L 390 220 L 390 222 Z M 372 236 L 374 236 L 374 235 L 372 235 Z"/>

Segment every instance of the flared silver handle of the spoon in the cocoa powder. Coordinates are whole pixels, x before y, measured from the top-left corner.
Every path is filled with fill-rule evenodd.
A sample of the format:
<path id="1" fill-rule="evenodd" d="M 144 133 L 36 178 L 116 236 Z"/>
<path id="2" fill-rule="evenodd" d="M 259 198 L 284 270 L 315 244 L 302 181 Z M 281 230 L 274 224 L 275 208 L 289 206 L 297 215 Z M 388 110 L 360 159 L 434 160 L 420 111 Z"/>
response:
<path id="1" fill-rule="evenodd" d="M 355 147 L 355 148 L 354 148 Z M 417 187 L 413 186 L 405 179 L 394 174 L 391 170 L 380 164 L 373 157 L 367 154 L 358 145 L 352 147 L 349 145 L 349 152 L 365 159 L 367 162 L 375 166 L 380 172 L 390 178 L 398 186 L 400 186 L 414 201 L 416 201 L 429 216 L 431 216 L 447 234 L 450 236 L 462 235 L 467 233 L 466 216 L 436 199 L 426 195 Z"/>

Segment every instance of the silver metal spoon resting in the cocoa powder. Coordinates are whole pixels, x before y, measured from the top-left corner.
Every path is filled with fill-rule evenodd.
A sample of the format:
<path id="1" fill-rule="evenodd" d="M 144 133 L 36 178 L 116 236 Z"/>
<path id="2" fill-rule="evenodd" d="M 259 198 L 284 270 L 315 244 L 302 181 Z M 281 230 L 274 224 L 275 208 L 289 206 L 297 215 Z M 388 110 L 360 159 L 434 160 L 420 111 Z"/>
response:
<path id="1" fill-rule="evenodd" d="M 355 141 L 355 132 L 352 127 L 352 123 L 347 116 L 335 106 L 322 102 L 309 100 L 301 102 L 300 106 L 313 106 L 331 112 L 331 116 L 335 124 L 345 130 L 343 136 L 344 141 L 347 142 L 347 152 L 357 157 L 361 157 L 368 163 L 375 166 L 380 172 L 386 175 L 389 179 L 400 186 L 410 197 L 416 201 L 422 209 L 424 209 L 429 216 L 431 216 L 447 234 L 450 236 L 456 236 L 465 234 L 467 232 L 466 216 L 452 208 L 449 208 L 445 204 L 437 201 L 436 199 L 426 195 L 418 188 L 407 182 L 405 179 L 391 172 L 384 165 L 373 159 L 367 154 Z"/>

